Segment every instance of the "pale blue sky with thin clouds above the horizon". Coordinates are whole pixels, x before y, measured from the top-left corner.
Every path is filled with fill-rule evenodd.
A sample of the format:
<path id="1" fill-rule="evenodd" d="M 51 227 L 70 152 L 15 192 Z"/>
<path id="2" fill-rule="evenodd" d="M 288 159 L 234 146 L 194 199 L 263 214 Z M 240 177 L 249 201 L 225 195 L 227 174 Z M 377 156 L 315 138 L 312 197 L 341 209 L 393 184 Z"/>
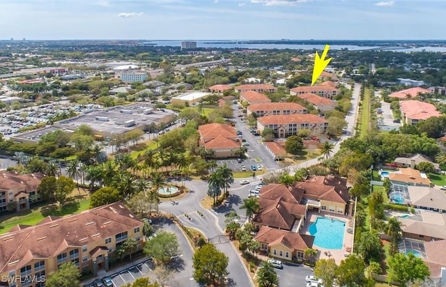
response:
<path id="1" fill-rule="evenodd" d="M 446 0 L 0 0 L 0 40 L 446 39 Z"/>

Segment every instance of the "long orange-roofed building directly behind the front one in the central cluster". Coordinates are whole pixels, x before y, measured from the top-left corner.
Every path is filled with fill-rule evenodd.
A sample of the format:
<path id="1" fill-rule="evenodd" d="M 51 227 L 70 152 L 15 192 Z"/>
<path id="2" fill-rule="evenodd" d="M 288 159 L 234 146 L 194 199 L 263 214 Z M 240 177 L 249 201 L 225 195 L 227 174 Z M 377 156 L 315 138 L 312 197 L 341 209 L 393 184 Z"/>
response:
<path id="1" fill-rule="evenodd" d="M 257 117 L 291 115 L 291 114 L 307 114 L 306 107 L 302 107 L 295 102 L 266 102 L 262 104 L 250 104 L 247 107 L 247 115 L 256 113 Z"/>

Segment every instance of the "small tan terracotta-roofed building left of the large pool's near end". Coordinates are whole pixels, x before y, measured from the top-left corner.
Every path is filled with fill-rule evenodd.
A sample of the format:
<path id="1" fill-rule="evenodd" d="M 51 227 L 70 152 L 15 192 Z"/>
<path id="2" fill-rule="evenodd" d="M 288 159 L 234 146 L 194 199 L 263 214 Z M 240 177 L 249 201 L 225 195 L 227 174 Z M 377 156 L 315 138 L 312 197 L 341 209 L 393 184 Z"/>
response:
<path id="1" fill-rule="evenodd" d="M 314 236 L 261 226 L 254 240 L 260 250 L 274 258 L 285 261 L 305 260 L 305 249 L 312 248 Z"/>

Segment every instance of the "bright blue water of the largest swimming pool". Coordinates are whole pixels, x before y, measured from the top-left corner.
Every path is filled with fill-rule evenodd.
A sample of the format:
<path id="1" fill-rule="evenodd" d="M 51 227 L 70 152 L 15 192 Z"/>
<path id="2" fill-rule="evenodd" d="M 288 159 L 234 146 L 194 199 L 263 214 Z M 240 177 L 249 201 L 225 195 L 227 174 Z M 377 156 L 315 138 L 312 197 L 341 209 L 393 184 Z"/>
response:
<path id="1" fill-rule="evenodd" d="M 309 233 L 314 235 L 314 245 L 326 249 L 342 249 L 346 223 L 337 219 L 318 217 L 309 226 Z"/>

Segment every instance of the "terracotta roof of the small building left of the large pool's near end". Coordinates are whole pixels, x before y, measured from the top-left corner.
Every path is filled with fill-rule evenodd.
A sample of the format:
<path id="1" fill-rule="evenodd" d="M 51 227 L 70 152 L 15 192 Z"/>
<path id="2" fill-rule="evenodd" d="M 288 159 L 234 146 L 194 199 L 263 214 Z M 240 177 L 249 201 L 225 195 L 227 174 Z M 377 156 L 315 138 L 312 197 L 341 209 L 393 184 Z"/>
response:
<path id="1" fill-rule="evenodd" d="M 254 239 L 266 243 L 268 246 L 282 244 L 293 251 L 303 251 L 307 248 L 312 248 L 314 242 L 314 236 L 312 235 L 284 231 L 268 226 L 261 226 Z"/>

